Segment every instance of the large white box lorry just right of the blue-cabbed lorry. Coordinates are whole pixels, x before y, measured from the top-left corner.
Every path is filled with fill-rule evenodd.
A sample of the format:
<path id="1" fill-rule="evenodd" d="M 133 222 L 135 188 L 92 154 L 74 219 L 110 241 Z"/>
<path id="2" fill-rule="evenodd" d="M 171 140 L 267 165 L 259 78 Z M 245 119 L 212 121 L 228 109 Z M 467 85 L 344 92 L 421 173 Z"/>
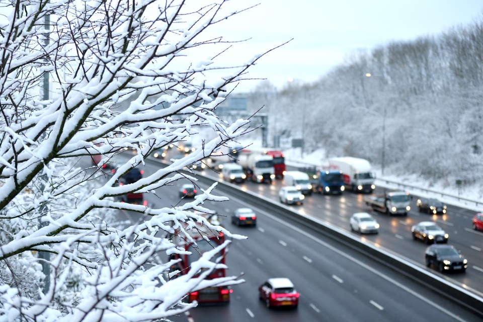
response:
<path id="1" fill-rule="evenodd" d="M 366 159 L 352 156 L 331 157 L 329 168 L 342 171 L 347 189 L 366 193 L 372 193 L 376 189 L 371 164 Z"/>

